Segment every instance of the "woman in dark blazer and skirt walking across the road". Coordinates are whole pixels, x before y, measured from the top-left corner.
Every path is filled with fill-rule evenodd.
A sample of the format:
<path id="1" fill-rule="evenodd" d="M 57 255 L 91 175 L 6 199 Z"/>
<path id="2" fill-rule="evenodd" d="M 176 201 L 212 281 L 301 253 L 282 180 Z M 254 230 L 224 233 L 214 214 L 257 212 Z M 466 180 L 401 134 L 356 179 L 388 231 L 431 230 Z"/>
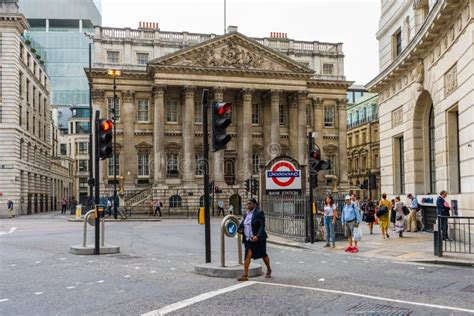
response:
<path id="1" fill-rule="evenodd" d="M 267 266 L 266 278 L 271 278 L 272 269 L 267 254 L 267 233 L 265 232 L 265 214 L 258 208 L 256 199 L 247 202 L 247 212 L 239 225 L 239 234 L 243 235 L 242 243 L 245 246 L 244 274 L 238 281 L 248 281 L 250 261 L 263 259 Z"/>

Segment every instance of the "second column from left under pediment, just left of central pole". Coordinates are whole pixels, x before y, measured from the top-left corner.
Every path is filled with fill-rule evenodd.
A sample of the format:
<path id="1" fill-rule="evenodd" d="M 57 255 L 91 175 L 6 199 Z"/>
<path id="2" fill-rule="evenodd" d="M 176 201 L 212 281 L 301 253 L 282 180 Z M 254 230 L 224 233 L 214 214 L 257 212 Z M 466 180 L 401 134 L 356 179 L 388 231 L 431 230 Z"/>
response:
<path id="1" fill-rule="evenodd" d="M 183 113 L 183 180 L 194 181 L 194 87 L 184 88 Z"/>

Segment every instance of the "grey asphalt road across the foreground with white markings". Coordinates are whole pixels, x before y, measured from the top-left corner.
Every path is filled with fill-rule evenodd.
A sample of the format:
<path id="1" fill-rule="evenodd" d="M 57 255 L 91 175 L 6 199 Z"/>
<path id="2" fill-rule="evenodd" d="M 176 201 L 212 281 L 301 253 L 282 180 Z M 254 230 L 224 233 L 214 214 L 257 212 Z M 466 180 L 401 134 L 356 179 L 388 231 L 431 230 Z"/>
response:
<path id="1" fill-rule="evenodd" d="M 0 220 L 0 315 L 474 314 L 469 268 L 269 245 L 273 278 L 239 283 L 193 272 L 204 262 L 204 227 L 195 220 L 106 225 L 120 255 L 70 254 L 82 225 L 62 216 Z M 226 249 L 227 260 L 237 258 L 234 239 Z"/>

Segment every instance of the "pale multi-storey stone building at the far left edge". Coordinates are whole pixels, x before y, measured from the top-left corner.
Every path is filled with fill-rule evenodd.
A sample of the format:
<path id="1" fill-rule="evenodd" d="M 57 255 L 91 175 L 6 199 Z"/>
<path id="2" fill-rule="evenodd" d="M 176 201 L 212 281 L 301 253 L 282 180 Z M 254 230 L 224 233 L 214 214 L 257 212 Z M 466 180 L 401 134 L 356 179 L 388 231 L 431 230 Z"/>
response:
<path id="1" fill-rule="evenodd" d="M 29 27 L 15 1 L 0 2 L 0 217 L 54 209 L 49 78 L 21 36 Z"/>

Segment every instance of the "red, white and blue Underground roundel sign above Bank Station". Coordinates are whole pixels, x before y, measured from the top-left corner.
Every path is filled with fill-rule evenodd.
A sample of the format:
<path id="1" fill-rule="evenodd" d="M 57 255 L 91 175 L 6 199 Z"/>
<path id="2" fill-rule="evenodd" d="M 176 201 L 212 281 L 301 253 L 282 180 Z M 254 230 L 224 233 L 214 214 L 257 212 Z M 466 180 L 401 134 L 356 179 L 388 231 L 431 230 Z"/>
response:
<path id="1" fill-rule="evenodd" d="M 288 160 L 275 162 L 265 172 L 267 191 L 301 190 L 301 170 Z"/>

